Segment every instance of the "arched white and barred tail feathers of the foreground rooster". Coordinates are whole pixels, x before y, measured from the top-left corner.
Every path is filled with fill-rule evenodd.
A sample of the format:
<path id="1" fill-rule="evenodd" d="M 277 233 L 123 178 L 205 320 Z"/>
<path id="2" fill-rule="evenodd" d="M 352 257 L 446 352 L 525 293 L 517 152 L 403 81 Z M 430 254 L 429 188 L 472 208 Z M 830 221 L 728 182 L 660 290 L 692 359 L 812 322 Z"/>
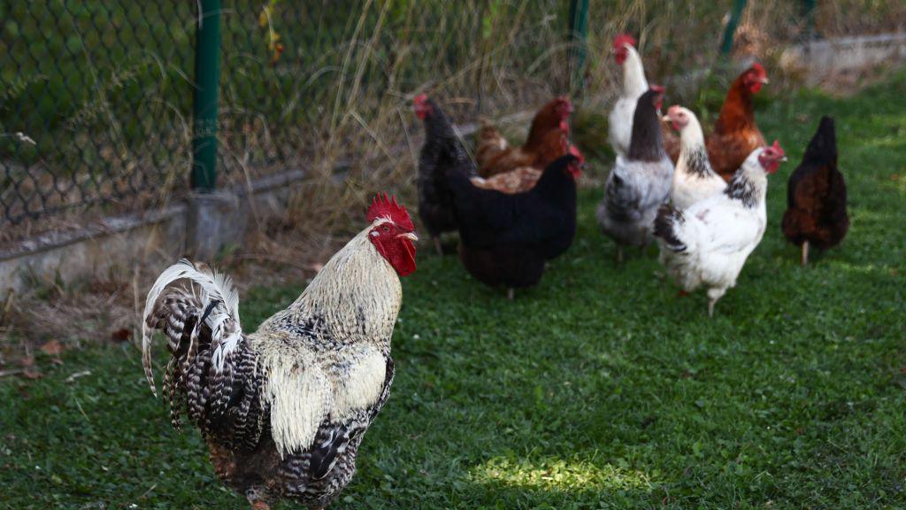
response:
<path id="1" fill-rule="evenodd" d="M 178 280 L 188 280 L 189 289 L 171 289 L 164 294 Z M 199 314 L 201 317 L 198 317 Z M 226 356 L 242 338 L 239 294 L 233 288 L 232 280 L 225 274 L 182 259 L 160 273 L 145 300 L 141 325 L 141 363 L 155 396 L 157 390 L 151 369 L 153 329 L 163 329 L 173 357 L 183 358 L 188 363 L 194 358 L 193 352 L 198 352 L 198 334 L 202 326 L 207 326 L 210 330 L 212 367 L 221 371 Z M 183 350 L 186 352 L 181 352 Z M 165 384 L 168 386 L 183 382 L 170 380 L 173 373 L 169 369 L 168 373 L 165 377 Z"/>

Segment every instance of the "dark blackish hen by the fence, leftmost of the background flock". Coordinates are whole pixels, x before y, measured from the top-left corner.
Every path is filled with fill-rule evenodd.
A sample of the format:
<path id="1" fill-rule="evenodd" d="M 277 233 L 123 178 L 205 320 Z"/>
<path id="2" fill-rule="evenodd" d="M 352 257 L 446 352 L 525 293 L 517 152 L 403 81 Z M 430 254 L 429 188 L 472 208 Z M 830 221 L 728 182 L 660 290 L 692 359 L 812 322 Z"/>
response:
<path id="1" fill-rule="evenodd" d="M 426 94 L 416 96 L 413 103 L 415 114 L 425 126 L 425 142 L 419 154 L 419 218 L 438 254 L 443 255 L 440 234 L 458 227 L 444 174 L 448 171 L 474 174 L 475 168 L 439 105 Z"/>

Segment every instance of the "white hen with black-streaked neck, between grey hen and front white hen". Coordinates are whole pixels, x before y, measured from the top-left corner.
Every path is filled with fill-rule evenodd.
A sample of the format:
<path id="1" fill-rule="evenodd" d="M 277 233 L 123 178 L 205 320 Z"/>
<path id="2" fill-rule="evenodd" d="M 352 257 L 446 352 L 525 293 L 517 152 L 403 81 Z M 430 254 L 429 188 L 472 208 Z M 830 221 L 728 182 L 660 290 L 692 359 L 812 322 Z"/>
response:
<path id="1" fill-rule="evenodd" d="M 686 209 L 697 201 L 723 191 L 727 183 L 711 169 L 705 137 L 695 113 L 682 106 L 670 106 L 664 120 L 679 131 L 680 151 L 670 200 L 678 209 Z"/>

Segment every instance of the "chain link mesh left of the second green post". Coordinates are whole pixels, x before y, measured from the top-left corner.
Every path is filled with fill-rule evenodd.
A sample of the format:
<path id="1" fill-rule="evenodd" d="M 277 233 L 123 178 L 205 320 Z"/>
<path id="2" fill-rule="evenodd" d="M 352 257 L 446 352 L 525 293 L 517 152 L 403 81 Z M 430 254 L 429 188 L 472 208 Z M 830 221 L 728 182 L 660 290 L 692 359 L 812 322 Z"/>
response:
<path id="1" fill-rule="evenodd" d="M 549 85 L 537 63 L 564 42 L 560 4 L 225 1 L 218 181 L 303 168 L 327 145 L 342 157 L 362 133 L 381 145 L 390 137 L 369 131 L 388 103 L 401 112 L 425 83 L 471 89 L 477 66 L 501 54 L 517 58 L 487 80 L 534 71 Z M 199 5 L 0 5 L 0 224 L 137 211 L 188 188 Z M 488 36 L 500 24 L 506 48 Z"/>

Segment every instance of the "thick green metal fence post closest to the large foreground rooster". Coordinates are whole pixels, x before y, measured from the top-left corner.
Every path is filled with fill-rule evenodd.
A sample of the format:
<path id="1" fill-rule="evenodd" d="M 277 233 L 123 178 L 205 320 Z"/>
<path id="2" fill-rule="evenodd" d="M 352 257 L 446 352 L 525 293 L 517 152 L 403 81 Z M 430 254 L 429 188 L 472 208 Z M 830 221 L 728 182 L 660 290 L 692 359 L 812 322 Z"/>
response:
<path id="1" fill-rule="evenodd" d="M 220 0 L 200 0 L 195 40 L 192 189 L 217 187 L 217 85 L 220 82 Z"/>

